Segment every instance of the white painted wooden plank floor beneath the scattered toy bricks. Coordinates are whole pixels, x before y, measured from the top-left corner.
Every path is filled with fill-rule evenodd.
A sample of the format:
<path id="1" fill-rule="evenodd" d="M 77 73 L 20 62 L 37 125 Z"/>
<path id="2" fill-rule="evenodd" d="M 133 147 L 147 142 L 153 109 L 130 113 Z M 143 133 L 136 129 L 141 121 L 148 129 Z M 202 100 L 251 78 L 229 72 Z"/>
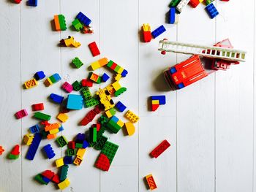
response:
<path id="1" fill-rule="evenodd" d="M 99 45 L 102 57 L 128 70 L 122 80 L 128 90 L 120 100 L 140 116 L 140 121 L 133 137 L 124 137 L 121 131 L 108 135 L 119 145 L 109 172 L 94 168 L 99 152 L 90 149 L 80 167 L 69 166 L 71 184 L 65 191 L 146 191 L 143 177 L 149 173 L 154 174 L 157 191 L 256 191 L 255 1 L 216 0 L 220 15 L 214 20 L 208 18 L 203 4 L 197 9 L 188 6 L 178 25 L 165 24 L 167 32 L 148 44 L 140 42 L 140 26 L 150 23 L 154 29 L 164 24 L 170 0 L 38 1 L 38 7 L 26 6 L 26 0 L 21 4 L 0 2 L 0 145 L 6 150 L 0 156 L 1 192 L 56 191 L 52 183 L 45 186 L 33 180 L 45 169 L 56 171 L 53 160 L 46 160 L 42 151 L 34 161 L 28 161 L 28 147 L 22 145 L 20 158 L 7 160 L 11 148 L 20 144 L 23 134 L 37 123 L 31 113 L 22 120 L 16 120 L 14 114 L 23 108 L 31 112 L 31 104 L 44 102 L 45 112 L 57 115 L 59 107 L 47 97 L 50 93 L 66 96 L 60 82 L 50 88 L 41 82 L 31 90 L 23 90 L 22 84 L 40 70 L 48 76 L 58 72 L 62 82 L 86 77 L 86 66 L 99 58 L 92 58 L 87 47 L 93 41 Z M 93 21 L 93 35 L 71 28 L 61 34 L 52 30 L 53 15 L 64 14 L 70 26 L 80 11 Z M 59 39 L 68 35 L 82 46 L 58 47 Z M 166 91 L 162 71 L 189 55 L 159 54 L 158 41 L 164 37 L 203 45 L 230 38 L 234 47 L 247 50 L 246 63 L 211 74 L 183 90 Z M 70 62 L 75 56 L 86 66 L 72 69 Z M 165 94 L 167 104 L 149 112 L 148 96 L 156 94 Z M 87 129 L 77 126 L 86 112 L 69 113 L 63 132 L 67 139 Z M 163 139 L 172 146 L 159 158 L 150 158 L 148 153 Z M 47 143 L 43 141 L 41 146 Z M 50 144 L 56 158 L 64 155 L 55 142 Z"/>

